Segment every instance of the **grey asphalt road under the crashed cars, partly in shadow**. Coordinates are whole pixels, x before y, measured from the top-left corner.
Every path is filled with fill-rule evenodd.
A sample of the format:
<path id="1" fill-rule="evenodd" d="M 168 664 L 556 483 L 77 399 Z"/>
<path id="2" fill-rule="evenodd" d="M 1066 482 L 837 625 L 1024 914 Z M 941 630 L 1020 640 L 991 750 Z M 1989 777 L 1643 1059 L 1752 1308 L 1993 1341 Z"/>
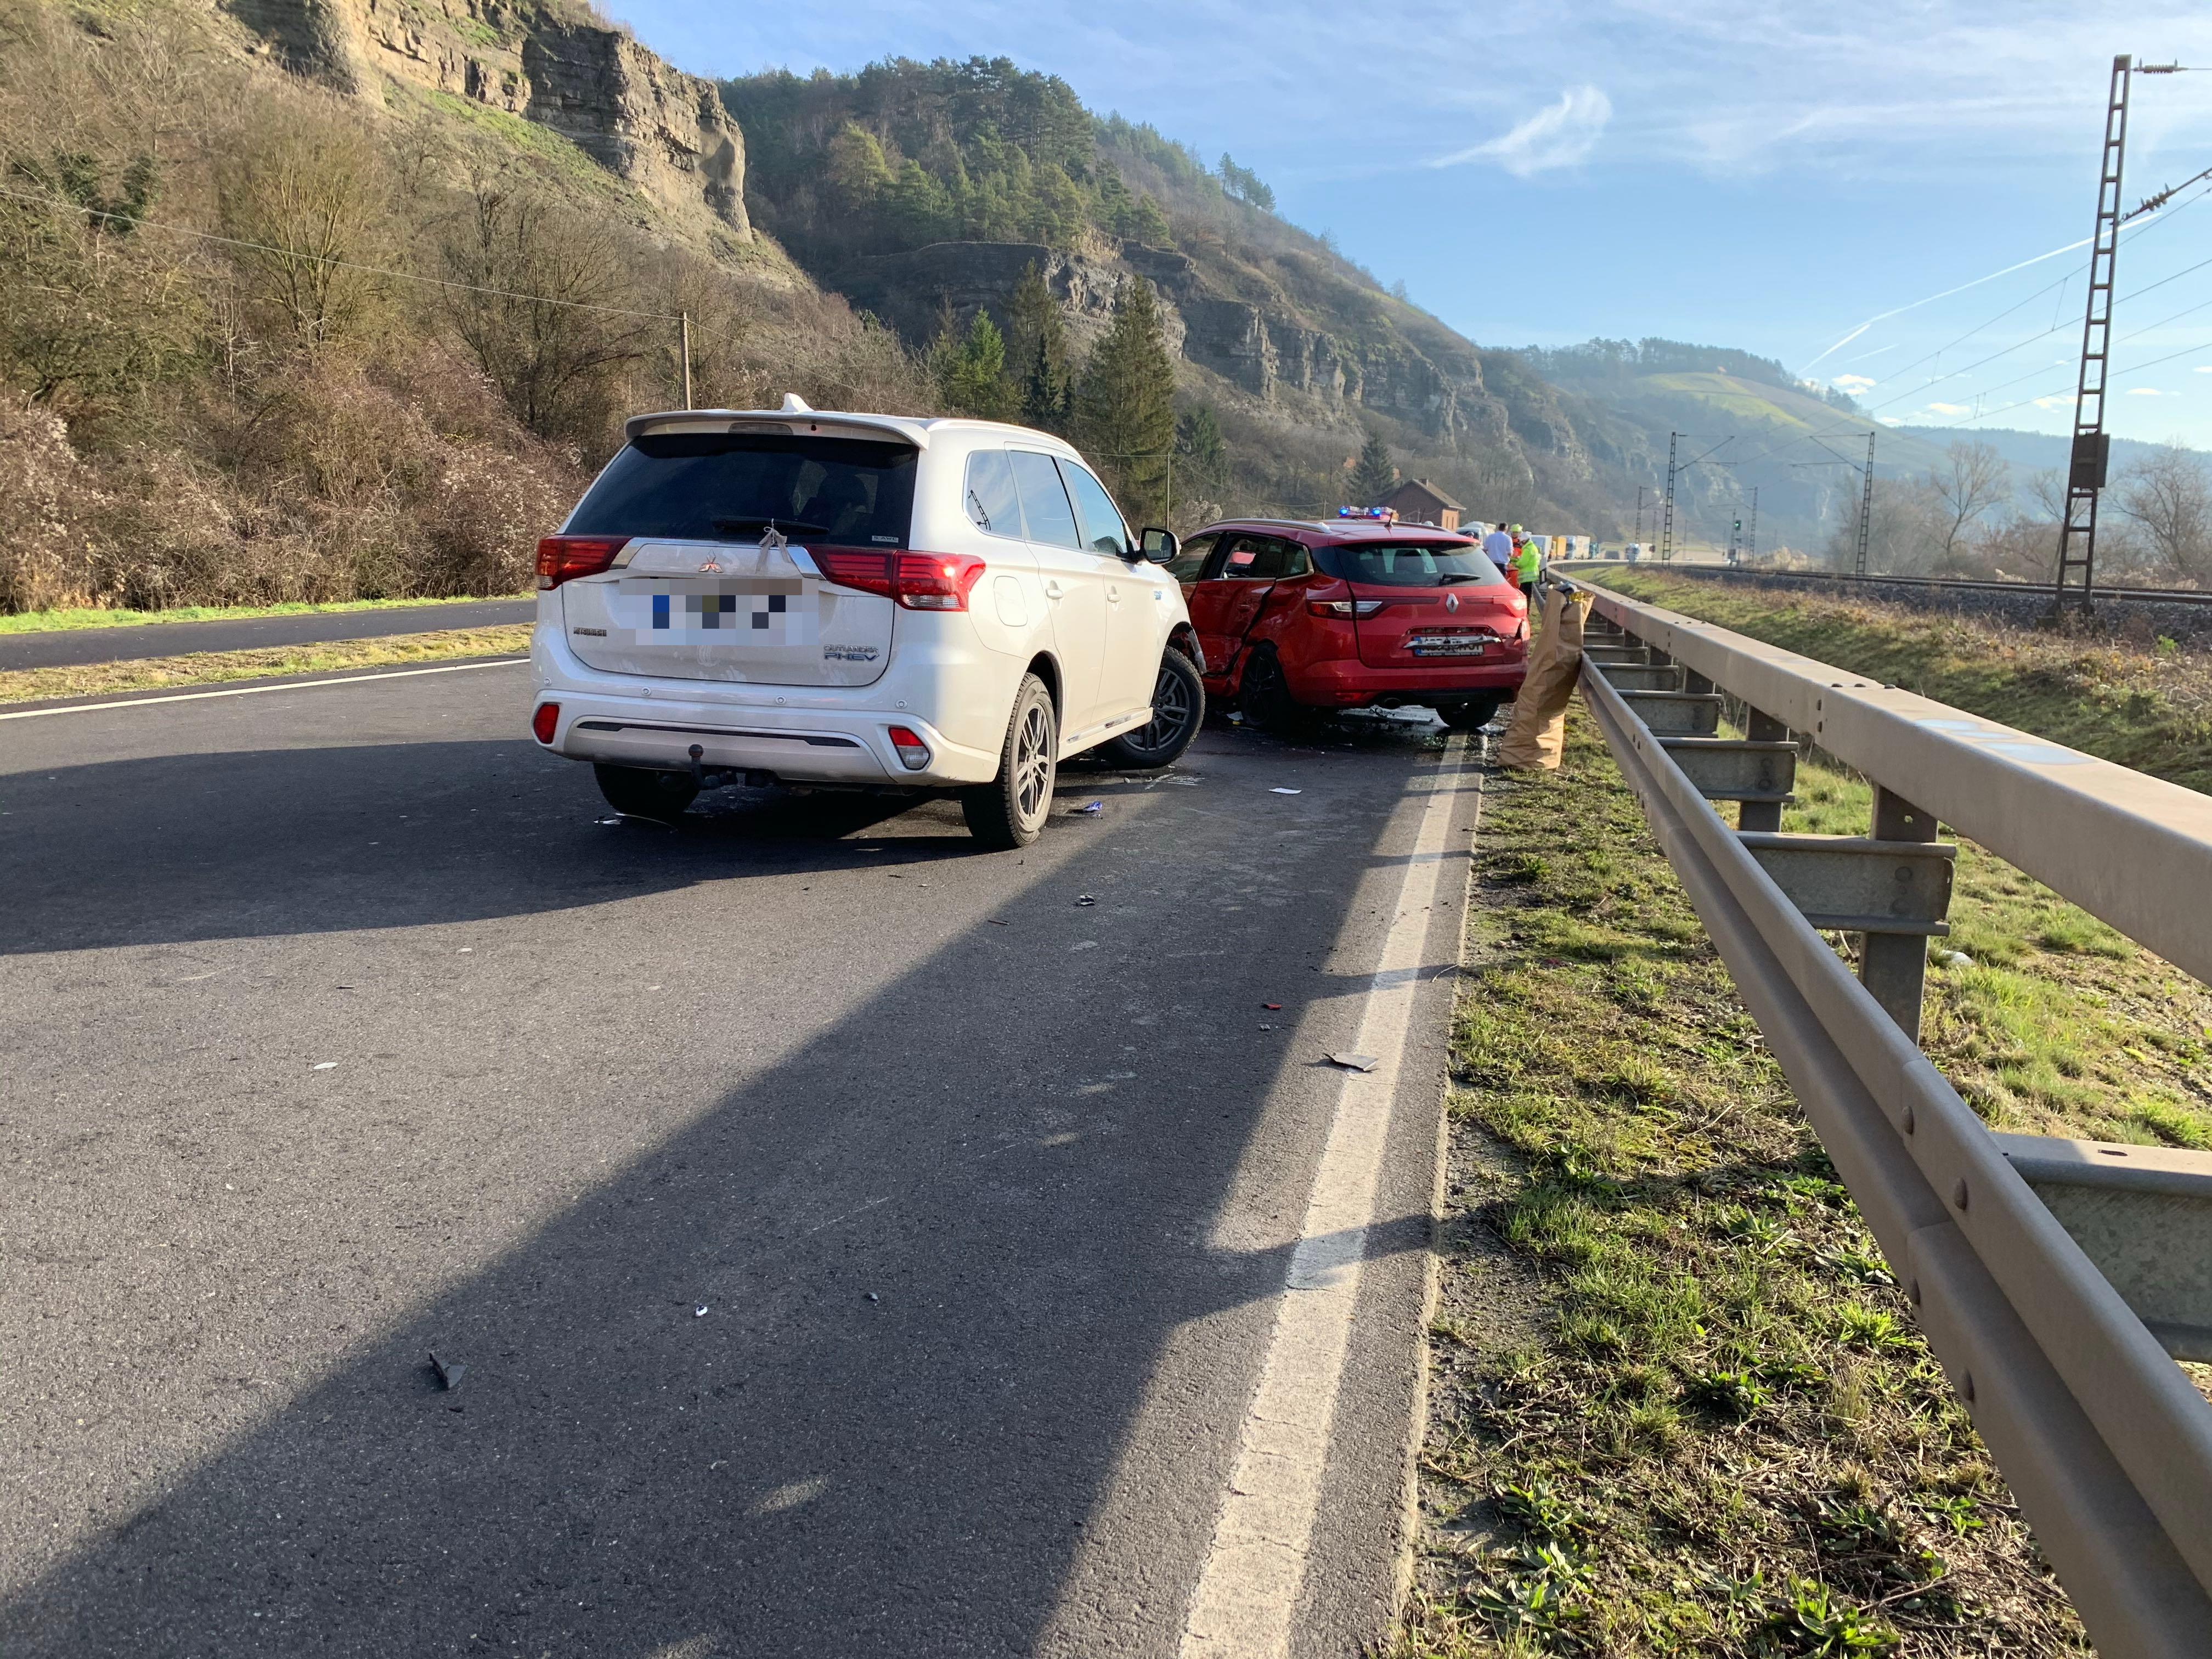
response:
<path id="1" fill-rule="evenodd" d="M 0 726 L 0 1650 L 1179 1652 L 1451 790 L 1294 1617 L 1356 1655 L 1475 770 L 1219 728 L 978 854 L 938 803 L 606 823 L 526 701 Z"/>

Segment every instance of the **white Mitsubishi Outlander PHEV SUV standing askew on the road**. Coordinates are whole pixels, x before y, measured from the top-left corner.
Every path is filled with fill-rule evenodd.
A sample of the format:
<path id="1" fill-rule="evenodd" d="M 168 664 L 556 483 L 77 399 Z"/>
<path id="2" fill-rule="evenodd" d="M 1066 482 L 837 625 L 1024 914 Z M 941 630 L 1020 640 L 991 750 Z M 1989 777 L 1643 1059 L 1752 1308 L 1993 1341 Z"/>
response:
<path id="1" fill-rule="evenodd" d="M 531 732 L 617 812 L 739 781 L 958 790 L 1020 847 L 1068 754 L 1161 768 L 1197 737 L 1175 553 L 1026 427 L 799 398 L 637 416 L 538 544 Z"/>

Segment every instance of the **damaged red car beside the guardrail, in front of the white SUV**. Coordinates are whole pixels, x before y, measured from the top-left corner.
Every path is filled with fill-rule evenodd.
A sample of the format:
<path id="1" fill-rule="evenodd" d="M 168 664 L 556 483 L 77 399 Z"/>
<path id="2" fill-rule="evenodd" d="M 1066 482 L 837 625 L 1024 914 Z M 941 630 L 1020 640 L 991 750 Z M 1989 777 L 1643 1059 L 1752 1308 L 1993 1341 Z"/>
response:
<path id="1" fill-rule="evenodd" d="M 1528 672 L 1528 602 L 1455 531 L 1232 520 L 1183 542 L 1168 571 L 1208 695 L 1261 726 L 1420 703 L 1464 732 Z"/>

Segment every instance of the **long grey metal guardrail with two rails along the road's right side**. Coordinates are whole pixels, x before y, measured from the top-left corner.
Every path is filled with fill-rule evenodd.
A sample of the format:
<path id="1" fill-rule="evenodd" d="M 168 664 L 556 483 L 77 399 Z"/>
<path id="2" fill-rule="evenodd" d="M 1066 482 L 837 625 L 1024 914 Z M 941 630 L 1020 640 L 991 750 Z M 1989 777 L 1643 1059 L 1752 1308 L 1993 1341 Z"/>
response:
<path id="1" fill-rule="evenodd" d="M 2170 1356 L 2212 1358 L 2212 1157 L 1995 1137 L 1918 1046 L 1938 821 L 2212 978 L 2212 799 L 1584 591 L 1606 745 L 2099 1652 L 2212 1655 L 2212 1405 Z M 1876 783 L 1871 836 L 1774 834 L 1790 734 Z M 1860 975 L 1814 922 L 1865 929 Z"/>

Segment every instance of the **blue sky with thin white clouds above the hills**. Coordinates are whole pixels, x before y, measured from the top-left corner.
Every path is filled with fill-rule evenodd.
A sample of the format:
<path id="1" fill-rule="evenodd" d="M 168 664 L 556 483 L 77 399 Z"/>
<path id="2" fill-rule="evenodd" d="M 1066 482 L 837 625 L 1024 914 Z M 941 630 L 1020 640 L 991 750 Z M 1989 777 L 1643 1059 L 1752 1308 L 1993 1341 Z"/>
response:
<path id="1" fill-rule="evenodd" d="M 2112 53 L 2205 66 L 2137 77 L 2130 206 L 2212 166 L 2203 0 L 617 9 L 701 75 L 1006 55 L 1232 153 L 1484 345 L 1736 345 L 1962 434 L 2070 425 L 2084 252 L 1918 301 L 2088 234 Z M 2121 436 L 2212 447 L 2205 190 L 2121 248 Z"/>

